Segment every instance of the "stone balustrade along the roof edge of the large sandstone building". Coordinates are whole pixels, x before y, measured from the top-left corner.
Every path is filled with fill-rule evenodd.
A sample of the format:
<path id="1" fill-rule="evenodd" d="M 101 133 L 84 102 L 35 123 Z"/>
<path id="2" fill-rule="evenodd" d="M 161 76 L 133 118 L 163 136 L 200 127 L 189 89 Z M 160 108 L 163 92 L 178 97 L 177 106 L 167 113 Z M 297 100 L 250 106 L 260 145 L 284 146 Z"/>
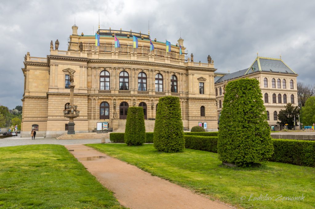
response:
<path id="1" fill-rule="evenodd" d="M 140 62 L 158 62 L 170 65 L 179 65 L 187 67 L 207 67 L 214 68 L 213 63 L 201 63 L 201 62 L 186 62 L 184 59 L 173 59 L 169 56 L 164 58 L 155 57 L 154 54 L 148 54 L 148 56 L 137 56 L 136 52 L 130 52 L 130 55 L 120 55 L 118 51 L 112 51 L 110 54 L 100 54 L 98 51 L 87 53 L 85 51 L 61 51 L 50 50 L 50 55 L 55 56 L 69 56 L 69 57 L 82 57 L 88 59 L 111 59 L 111 60 L 126 60 L 126 61 L 140 61 Z M 28 62 L 47 62 L 47 58 L 27 56 Z"/>

